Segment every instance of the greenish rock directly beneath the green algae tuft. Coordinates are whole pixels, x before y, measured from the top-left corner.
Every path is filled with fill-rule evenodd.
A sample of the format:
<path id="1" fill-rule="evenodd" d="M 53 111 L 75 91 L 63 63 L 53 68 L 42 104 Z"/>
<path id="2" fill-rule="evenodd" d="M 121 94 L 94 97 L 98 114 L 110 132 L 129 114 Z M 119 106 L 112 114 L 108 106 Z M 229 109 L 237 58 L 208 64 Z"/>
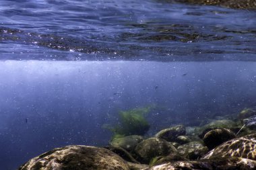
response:
<path id="1" fill-rule="evenodd" d="M 130 135 L 121 138 L 114 138 L 110 141 L 110 145 L 124 148 L 126 151 L 133 151 L 135 146 L 143 140 L 143 136 Z"/>

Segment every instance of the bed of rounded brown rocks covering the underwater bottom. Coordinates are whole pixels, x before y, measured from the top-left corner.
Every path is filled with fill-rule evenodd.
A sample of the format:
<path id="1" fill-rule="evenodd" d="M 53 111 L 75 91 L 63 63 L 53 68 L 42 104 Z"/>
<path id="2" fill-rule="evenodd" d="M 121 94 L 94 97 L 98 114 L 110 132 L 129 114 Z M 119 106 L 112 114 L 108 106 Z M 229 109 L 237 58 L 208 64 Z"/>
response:
<path id="1" fill-rule="evenodd" d="M 256 132 L 251 125 L 256 124 L 255 116 L 255 109 L 246 108 L 233 120 L 212 120 L 201 127 L 179 124 L 148 138 L 119 136 L 104 148 L 83 145 L 55 148 L 19 169 L 253 170 Z"/>

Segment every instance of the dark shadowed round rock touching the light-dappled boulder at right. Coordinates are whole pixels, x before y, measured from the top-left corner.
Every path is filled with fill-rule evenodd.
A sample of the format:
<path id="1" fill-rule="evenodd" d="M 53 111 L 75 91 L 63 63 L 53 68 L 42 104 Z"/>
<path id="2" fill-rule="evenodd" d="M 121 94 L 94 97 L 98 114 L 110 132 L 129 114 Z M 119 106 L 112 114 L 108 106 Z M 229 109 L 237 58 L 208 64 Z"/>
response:
<path id="1" fill-rule="evenodd" d="M 207 132 L 203 137 L 203 142 L 210 150 L 212 150 L 216 146 L 232 138 L 236 138 L 234 132 L 226 128 L 218 128 Z"/>

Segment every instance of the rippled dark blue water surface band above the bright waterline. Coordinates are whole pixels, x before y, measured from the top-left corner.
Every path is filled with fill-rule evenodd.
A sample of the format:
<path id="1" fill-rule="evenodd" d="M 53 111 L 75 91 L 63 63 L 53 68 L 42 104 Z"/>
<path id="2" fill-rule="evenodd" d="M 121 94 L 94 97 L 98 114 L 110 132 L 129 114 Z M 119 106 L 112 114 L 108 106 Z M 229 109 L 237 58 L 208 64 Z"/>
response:
<path id="1" fill-rule="evenodd" d="M 1 59 L 256 60 L 256 12 L 156 0 L 3 0 Z"/>

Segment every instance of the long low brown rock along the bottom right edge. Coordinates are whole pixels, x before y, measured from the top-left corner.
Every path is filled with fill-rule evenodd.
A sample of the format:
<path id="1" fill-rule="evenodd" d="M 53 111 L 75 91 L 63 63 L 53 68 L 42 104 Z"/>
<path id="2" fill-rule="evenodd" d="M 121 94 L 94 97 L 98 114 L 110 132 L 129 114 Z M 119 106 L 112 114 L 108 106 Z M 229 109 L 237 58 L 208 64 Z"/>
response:
<path id="1" fill-rule="evenodd" d="M 170 162 L 141 170 L 255 170 L 256 161 L 238 157 Z"/>

